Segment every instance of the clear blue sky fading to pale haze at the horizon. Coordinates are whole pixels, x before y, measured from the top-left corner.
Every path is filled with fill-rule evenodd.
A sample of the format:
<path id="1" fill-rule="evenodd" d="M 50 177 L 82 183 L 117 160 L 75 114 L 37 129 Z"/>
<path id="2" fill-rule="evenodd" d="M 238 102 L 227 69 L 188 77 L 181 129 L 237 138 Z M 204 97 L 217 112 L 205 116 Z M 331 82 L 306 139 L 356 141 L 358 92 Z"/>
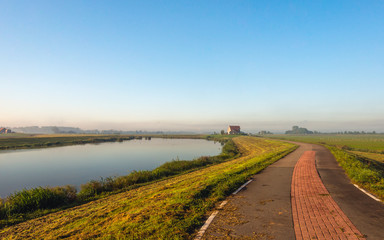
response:
<path id="1" fill-rule="evenodd" d="M 383 12 L 383 0 L 0 0 L 0 126 L 384 132 Z"/>

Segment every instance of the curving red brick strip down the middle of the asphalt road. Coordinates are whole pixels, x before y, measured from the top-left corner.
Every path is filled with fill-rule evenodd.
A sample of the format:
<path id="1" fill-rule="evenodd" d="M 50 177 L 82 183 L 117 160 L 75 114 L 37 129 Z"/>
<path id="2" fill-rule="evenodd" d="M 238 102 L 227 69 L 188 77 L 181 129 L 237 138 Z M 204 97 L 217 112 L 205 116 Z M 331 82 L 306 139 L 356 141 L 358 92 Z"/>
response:
<path id="1" fill-rule="evenodd" d="M 291 201 L 296 239 L 365 239 L 329 195 L 315 165 L 304 152 L 292 176 Z"/>

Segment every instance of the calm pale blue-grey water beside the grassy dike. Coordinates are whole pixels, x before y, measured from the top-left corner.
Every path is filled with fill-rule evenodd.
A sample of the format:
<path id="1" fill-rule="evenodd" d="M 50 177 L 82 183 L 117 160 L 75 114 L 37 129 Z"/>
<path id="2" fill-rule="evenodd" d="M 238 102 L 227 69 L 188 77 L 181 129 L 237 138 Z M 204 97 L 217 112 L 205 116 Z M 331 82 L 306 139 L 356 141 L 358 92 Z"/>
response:
<path id="1" fill-rule="evenodd" d="M 192 160 L 220 152 L 221 144 L 212 141 L 161 138 L 0 151 L 0 197 L 23 188 L 80 186 L 100 177 L 151 170 L 172 159 Z"/>

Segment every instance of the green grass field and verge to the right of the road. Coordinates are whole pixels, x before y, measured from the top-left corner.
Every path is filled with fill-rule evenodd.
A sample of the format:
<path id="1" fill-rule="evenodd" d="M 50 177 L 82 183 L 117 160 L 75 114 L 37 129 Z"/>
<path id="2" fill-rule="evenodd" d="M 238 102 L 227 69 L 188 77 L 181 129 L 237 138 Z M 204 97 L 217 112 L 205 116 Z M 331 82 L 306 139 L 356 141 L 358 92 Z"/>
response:
<path id="1" fill-rule="evenodd" d="M 275 135 L 326 146 L 352 182 L 384 200 L 384 135 Z"/>

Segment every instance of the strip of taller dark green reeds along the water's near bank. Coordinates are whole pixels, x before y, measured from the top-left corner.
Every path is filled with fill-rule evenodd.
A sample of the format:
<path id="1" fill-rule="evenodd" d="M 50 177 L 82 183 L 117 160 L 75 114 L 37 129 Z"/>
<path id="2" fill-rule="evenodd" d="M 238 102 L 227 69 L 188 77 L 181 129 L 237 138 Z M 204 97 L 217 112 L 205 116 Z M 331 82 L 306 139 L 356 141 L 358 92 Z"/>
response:
<path id="1" fill-rule="evenodd" d="M 185 138 L 186 136 L 181 137 Z M 202 156 L 194 160 L 173 160 L 150 171 L 133 171 L 125 176 L 92 180 L 83 184 L 79 193 L 73 186 L 38 187 L 15 192 L 4 200 L 0 199 L 0 228 L 137 188 L 149 182 L 228 161 L 239 155 L 236 145 L 230 140 L 231 136 L 195 135 L 193 137 L 204 137 L 220 141 L 222 144 L 225 143 L 222 153 L 217 156 Z M 110 139 L 107 138 L 107 140 Z"/>

